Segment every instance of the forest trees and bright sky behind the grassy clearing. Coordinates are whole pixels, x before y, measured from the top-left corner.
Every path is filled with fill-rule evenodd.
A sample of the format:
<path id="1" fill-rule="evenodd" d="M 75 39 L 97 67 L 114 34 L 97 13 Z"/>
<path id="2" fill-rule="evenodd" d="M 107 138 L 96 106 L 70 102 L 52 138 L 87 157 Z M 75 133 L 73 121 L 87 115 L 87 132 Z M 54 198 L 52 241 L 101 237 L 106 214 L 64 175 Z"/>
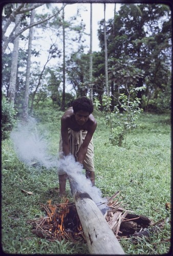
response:
<path id="1" fill-rule="evenodd" d="M 87 5 L 90 34 L 85 33 L 80 14 L 85 4 L 75 4 L 77 15 L 66 19 L 68 5 L 4 6 L 3 122 L 7 116 L 27 119 L 37 108 L 48 105 L 64 111 L 80 96 L 90 97 L 101 111 L 105 106 L 111 112 L 127 111 L 125 105 L 132 107 L 136 102 L 137 110 L 170 110 L 170 7 L 121 4 L 117 11 L 115 4 L 114 16 L 106 20 L 106 4 L 102 4 L 100 50 L 92 51 L 92 4 Z M 90 37 L 88 47 L 86 36 Z M 48 41 L 51 44 L 46 50 Z"/>

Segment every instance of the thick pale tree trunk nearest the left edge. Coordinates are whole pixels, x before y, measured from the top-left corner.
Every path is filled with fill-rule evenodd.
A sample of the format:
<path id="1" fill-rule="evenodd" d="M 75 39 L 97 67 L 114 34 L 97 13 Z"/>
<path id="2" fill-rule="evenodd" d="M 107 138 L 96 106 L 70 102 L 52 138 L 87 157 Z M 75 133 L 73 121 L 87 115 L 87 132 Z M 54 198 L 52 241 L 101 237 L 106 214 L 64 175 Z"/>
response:
<path id="1" fill-rule="evenodd" d="M 18 24 L 15 30 L 15 33 L 18 33 L 20 30 L 20 16 L 18 14 L 15 18 L 15 24 Z M 8 90 L 8 100 L 14 104 L 15 99 L 15 89 L 16 89 L 16 79 L 17 79 L 17 61 L 18 61 L 18 45 L 19 45 L 19 36 L 14 39 L 13 42 L 13 53 L 11 60 L 11 73 L 10 73 L 10 82 L 9 82 L 9 90 Z"/>

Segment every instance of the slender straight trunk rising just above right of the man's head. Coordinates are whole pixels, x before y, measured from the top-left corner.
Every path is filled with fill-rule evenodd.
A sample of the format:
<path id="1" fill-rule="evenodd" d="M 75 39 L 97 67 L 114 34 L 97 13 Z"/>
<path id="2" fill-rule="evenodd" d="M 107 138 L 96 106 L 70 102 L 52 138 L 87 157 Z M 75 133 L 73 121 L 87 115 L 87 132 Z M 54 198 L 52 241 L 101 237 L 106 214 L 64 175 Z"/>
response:
<path id="1" fill-rule="evenodd" d="M 90 99 L 93 101 L 93 22 L 92 22 L 92 3 L 90 4 Z"/>

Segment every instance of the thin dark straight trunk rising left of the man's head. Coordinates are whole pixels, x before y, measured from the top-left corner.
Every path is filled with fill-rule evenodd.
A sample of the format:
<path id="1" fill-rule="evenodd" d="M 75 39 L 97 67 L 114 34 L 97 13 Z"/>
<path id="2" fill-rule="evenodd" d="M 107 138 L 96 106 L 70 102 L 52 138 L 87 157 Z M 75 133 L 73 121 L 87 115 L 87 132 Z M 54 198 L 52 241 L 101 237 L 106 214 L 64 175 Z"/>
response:
<path id="1" fill-rule="evenodd" d="M 66 51 L 65 51 L 66 43 L 65 43 L 64 8 L 62 9 L 62 35 L 63 35 L 63 65 L 62 65 L 63 89 L 62 89 L 61 110 L 64 111 L 65 100 L 66 100 Z"/>

